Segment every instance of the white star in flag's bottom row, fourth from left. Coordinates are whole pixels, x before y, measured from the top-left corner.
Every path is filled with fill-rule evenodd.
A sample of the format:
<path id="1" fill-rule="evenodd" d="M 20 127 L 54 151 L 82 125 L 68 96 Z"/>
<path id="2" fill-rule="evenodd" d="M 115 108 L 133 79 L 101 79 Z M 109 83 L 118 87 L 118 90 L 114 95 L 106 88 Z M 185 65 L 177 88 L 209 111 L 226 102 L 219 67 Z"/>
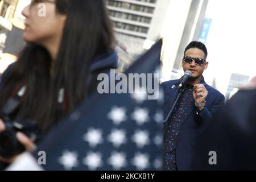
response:
<path id="1" fill-rule="evenodd" d="M 137 153 L 132 159 L 131 163 L 137 167 L 137 170 L 144 170 L 149 167 L 149 157 L 147 154 Z"/>

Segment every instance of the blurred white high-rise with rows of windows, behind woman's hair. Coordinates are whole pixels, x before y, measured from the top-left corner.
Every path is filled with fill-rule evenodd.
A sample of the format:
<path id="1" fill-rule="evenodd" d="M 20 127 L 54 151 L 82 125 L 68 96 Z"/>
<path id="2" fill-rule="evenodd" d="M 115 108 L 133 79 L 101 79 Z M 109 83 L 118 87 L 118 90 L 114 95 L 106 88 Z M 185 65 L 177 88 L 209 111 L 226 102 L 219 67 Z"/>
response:
<path id="1" fill-rule="evenodd" d="M 134 59 L 160 38 L 170 0 L 106 0 L 115 37 Z"/>

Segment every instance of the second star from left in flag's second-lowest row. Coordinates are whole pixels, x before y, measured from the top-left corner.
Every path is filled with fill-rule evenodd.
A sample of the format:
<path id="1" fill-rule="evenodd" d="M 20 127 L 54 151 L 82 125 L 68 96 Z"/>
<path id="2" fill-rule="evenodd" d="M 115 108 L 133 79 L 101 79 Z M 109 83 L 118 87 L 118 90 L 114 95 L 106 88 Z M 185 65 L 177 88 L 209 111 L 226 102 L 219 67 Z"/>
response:
<path id="1" fill-rule="evenodd" d="M 114 129 L 108 136 L 109 142 L 112 142 L 114 147 L 120 147 L 121 144 L 126 143 L 126 132 L 124 130 Z"/>

